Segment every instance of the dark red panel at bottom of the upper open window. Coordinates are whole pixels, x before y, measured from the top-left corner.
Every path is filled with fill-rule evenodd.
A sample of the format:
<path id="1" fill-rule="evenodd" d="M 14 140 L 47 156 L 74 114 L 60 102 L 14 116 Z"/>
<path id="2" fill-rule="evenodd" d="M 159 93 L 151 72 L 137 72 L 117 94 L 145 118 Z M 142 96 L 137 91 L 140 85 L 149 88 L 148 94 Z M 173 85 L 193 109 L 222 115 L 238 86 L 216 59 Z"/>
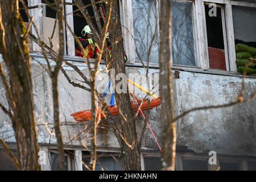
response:
<path id="1" fill-rule="evenodd" d="M 225 50 L 208 47 L 210 68 L 226 70 Z"/>

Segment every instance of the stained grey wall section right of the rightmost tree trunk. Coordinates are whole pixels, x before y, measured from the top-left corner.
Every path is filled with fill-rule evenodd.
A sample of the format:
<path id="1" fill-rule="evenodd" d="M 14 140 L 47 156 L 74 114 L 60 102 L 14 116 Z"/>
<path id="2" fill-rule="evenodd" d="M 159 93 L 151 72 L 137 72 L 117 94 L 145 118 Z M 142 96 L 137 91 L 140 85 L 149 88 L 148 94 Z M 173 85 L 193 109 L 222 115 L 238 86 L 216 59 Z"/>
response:
<path id="1" fill-rule="evenodd" d="M 236 101 L 241 77 L 181 72 L 175 80 L 176 111 Z M 246 96 L 256 79 L 246 78 Z M 256 155 L 256 100 L 225 109 L 195 111 L 177 122 L 179 144 L 218 154 Z"/>

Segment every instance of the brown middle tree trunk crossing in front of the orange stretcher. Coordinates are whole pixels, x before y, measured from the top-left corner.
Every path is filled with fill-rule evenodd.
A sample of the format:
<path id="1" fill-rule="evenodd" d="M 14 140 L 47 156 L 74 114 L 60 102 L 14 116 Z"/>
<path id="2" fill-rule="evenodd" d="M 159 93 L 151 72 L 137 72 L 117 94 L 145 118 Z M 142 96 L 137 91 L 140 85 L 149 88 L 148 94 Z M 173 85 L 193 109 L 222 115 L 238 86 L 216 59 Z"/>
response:
<path id="1" fill-rule="evenodd" d="M 112 61 L 115 69 L 115 76 L 119 73 L 126 74 L 125 62 L 123 61 L 122 29 L 116 0 L 113 1 L 113 10 L 109 27 L 112 27 L 109 28 L 109 38 L 110 42 L 112 42 Z M 124 152 L 125 170 L 141 170 L 141 154 L 138 148 L 135 118 L 133 110 L 131 109 L 128 90 L 126 90 L 126 93 L 115 93 L 115 100 L 117 101 L 121 119 L 123 138 L 125 138 L 126 142 L 132 146 L 129 147 L 123 140 L 121 140 L 121 148 Z"/>

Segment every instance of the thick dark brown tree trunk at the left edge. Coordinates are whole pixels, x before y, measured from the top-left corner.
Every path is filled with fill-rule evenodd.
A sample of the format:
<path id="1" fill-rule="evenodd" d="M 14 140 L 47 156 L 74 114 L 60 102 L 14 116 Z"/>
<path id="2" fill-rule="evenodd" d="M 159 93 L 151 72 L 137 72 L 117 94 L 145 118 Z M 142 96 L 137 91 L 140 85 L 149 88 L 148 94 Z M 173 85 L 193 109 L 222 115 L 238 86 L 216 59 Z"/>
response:
<path id="1" fill-rule="evenodd" d="M 0 1 L 0 49 L 8 69 L 9 83 L 3 75 L 3 68 L 1 77 L 5 82 L 20 169 L 39 170 L 31 62 L 18 2 Z"/>

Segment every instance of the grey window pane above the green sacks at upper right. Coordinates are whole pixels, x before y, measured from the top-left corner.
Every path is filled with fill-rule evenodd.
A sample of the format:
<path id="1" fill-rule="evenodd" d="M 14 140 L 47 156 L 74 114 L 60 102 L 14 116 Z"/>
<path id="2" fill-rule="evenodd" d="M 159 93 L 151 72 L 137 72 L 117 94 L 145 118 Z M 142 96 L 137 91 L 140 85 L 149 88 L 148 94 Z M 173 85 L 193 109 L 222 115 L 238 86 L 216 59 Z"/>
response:
<path id="1" fill-rule="evenodd" d="M 256 8 L 232 6 L 235 43 L 256 48 Z"/>

